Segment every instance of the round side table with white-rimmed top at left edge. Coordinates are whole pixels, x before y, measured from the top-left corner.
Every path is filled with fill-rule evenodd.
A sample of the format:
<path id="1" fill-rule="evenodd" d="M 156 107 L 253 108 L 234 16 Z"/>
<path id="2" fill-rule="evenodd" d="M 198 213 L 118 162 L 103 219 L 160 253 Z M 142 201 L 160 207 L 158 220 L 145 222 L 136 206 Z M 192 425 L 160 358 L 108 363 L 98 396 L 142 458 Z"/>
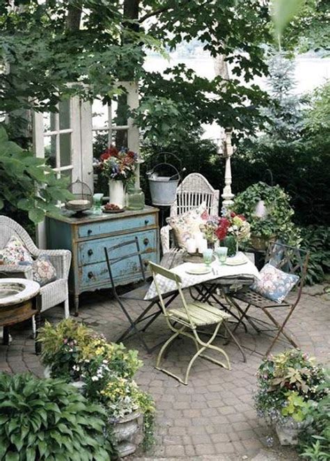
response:
<path id="1" fill-rule="evenodd" d="M 40 285 L 33 280 L 19 278 L 0 279 L 0 327 L 3 327 L 3 344 L 9 343 L 9 327 L 16 323 L 36 318 L 36 354 L 41 352 L 38 343 L 40 326 Z"/>

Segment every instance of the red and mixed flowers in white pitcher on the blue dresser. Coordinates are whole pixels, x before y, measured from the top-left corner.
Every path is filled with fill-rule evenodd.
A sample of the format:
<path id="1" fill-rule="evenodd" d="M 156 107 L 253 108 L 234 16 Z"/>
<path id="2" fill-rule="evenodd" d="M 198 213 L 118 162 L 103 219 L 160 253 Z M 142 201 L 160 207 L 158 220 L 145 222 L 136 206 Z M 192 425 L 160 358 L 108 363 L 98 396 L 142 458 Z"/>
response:
<path id="1" fill-rule="evenodd" d="M 123 208 L 125 205 L 125 186 L 133 179 L 138 156 L 132 150 L 116 149 L 110 146 L 100 156 L 100 170 L 109 180 L 109 203 Z"/>

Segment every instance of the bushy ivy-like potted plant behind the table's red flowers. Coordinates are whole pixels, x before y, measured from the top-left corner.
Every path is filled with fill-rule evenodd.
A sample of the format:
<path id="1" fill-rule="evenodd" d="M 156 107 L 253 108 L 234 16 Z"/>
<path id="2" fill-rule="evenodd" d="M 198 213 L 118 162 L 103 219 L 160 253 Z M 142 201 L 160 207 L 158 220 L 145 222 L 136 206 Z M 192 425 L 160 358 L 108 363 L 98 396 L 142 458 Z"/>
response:
<path id="1" fill-rule="evenodd" d="M 233 209 L 249 220 L 251 245 L 256 250 L 265 250 L 274 238 L 289 245 L 299 243 L 299 229 L 292 223 L 294 211 L 290 197 L 280 186 L 261 181 L 252 184 L 237 194 Z"/>

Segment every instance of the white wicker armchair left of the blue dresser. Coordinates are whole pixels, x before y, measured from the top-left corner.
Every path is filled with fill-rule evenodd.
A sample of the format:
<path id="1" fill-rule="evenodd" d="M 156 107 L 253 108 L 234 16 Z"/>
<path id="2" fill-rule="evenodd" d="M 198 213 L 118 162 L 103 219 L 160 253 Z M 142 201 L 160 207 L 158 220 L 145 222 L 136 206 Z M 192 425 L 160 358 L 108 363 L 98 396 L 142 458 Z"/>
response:
<path id="1" fill-rule="evenodd" d="M 25 247 L 31 252 L 34 258 L 40 254 L 47 254 L 49 260 L 56 268 L 57 279 L 41 287 L 41 312 L 50 307 L 54 307 L 61 302 L 64 303 L 65 318 L 70 316 L 69 311 L 69 291 L 68 276 L 71 264 L 71 252 L 69 250 L 39 250 L 33 243 L 31 237 L 17 224 L 7 216 L 0 216 L 0 248 L 3 248 L 11 236 L 17 236 L 24 243 Z M 32 269 L 30 266 L 0 266 L 1 277 L 22 277 L 32 279 Z M 32 321 L 33 334 L 36 334 L 36 323 Z"/>

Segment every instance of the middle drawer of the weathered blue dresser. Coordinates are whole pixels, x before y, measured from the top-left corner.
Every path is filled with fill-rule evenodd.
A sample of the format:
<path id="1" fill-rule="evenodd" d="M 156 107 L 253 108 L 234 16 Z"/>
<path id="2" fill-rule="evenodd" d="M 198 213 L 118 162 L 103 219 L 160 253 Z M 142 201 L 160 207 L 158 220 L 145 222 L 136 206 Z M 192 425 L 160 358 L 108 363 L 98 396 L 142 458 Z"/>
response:
<path id="1" fill-rule="evenodd" d="M 157 251 L 157 229 L 134 232 L 134 234 L 126 234 L 123 236 L 95 238 L 95 240 L 78 243 L 78 265 L 85 266 L 86 264 L 105 261 L 104 247 L 110 248 L 120 243 L 134 241 L 135 237 L 139 240 L 141 252 Z M 109 256 L 110 258 L 117 258 L 134 252 L 136 252 L 136 245 L 132 243 L 122 248 L 117 248 L 114 252 L 109 254 Z"/>

